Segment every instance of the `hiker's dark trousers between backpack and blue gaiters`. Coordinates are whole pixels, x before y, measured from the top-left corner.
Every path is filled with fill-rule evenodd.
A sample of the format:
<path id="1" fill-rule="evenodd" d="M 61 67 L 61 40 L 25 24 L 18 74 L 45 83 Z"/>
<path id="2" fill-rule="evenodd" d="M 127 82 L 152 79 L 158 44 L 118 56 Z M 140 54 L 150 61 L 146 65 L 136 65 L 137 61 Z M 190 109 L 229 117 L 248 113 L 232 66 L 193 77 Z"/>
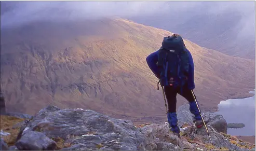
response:
<path id="1" fill-rule="evenodd" d="M 165 87 L 165 95 L 166 95 L 166 100 L 168 103 L 168 112 L 176 112 L 176 104 L 177 104 L 177 94 L 180 94 L 182 97 L 184 97 L 188 102 L 194 102 L 194 97 L 193 94 L 191 92 L 191 90 L 189 90 L 187 88 L 187 85 L 185 85 L 182 88 L 182 93 L 181 93 L 181 89 L 179 87 L 177 88 L 173 88 L 173 87 Z"/>

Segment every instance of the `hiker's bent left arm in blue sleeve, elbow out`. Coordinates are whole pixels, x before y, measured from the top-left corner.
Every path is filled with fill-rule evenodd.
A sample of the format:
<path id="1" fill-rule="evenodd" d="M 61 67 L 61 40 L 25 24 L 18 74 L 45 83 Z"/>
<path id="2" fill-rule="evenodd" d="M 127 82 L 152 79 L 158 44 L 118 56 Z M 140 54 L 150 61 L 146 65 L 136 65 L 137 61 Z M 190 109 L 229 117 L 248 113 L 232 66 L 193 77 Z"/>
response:
<path id="1" fill-rule="evenodd" d="M 158 50 L 151 53 L 146 58 L 147 65 L 149 65 L 150 70 L 155 74 L 155 76 L 159 79 L 160 73 L 157 67 L 157 60 L 158 60 Z"/>

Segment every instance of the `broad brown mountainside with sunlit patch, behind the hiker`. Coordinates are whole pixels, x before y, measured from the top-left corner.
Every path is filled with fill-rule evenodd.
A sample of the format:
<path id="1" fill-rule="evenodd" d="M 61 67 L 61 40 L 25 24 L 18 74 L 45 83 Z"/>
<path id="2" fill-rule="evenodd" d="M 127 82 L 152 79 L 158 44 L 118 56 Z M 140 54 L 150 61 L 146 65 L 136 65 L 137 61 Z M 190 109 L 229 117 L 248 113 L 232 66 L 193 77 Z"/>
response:
<path id="1" fill-rule="evenodd" d="M 124 19 L 33 22 L 1 31 L 1 90 L 7 111 L 34 114 L 52 104 L 120 116 L 165 114 L 145 58 L 172 33 Z M 199 104 L 246 97 L 254 62 L 185 40 Z M 185 102 L 178 97 L 178 106 Z"/>

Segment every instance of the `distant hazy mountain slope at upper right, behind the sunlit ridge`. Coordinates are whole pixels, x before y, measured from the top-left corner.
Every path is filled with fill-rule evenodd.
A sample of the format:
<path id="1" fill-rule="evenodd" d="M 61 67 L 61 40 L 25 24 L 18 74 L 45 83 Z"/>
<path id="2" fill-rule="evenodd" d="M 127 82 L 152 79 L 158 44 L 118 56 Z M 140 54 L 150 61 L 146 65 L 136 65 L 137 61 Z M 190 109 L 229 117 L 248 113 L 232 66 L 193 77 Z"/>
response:
<path id="1" fill-rule="evenodd" d="M 175 15 L 156 13 L 130 19 L 155 28 L 179 33 L 202 47 L 214 49 L 230 56 L 255 59 L 255 20 L 251 20 L 254 25 L 250 27 L 248 22 L 243 20 L 239 11 L 226 11 L 220 14 L 197 11 L 191 10 L 191 13 L 188 11 L 179 16 L 176 13 Z M 254 18 L 255 16 L 252 19 Z M 250 29 L 252 31 L 248 31 Z"/>

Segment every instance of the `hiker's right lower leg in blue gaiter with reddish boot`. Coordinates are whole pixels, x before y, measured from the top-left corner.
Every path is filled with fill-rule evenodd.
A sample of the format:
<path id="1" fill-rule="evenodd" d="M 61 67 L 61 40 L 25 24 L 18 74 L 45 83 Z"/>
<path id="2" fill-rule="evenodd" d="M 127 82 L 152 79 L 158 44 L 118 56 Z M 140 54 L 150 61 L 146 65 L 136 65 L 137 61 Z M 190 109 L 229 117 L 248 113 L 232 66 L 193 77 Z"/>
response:
<path id="1" fill-rule="evenodd" d="M 198 105 L 199 106 L 199 105 Z M 202 126 L 204 126 L 204 122 L 201 118 L 201 115 L 200 115 L 200 112 L 199 112 L 199 109 L 197 108 L 197 105 L 196 105 L 196 102 L 193 101 L 193 102 L 190 102 L 190 112 L 192 114 L 194 114 L 194 118 L 196 120 L 196 127 L 197 128 L 200 128 Z M 205 121 L 205 124 L 207 124 L 209 122 L 209 119 L 205 119 L 204 118 L 204 121 Z"/>

